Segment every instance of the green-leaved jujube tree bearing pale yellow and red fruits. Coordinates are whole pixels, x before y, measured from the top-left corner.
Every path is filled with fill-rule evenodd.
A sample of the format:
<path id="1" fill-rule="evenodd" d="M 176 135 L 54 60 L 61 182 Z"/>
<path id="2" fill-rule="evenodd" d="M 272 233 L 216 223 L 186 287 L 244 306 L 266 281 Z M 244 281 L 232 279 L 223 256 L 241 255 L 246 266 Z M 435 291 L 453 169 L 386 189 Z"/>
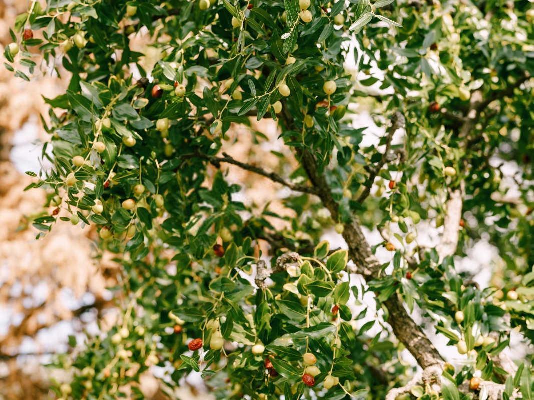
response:
<path id="1" fill-rule="evenodd" d="M 53 167 L 29 187 L 48 194 L 33 226 L 96 226 L 128 299 L 57 394 L 143 398 L 158 365 L 170 397 L 197 371 L 217 398 L 532 398 L 531 356 L 506 349 L 513 329 L 534 338 L 533 19 L 525 0 L 32 2 L 6 68 L 70 74 L 45 99 Z M 372 145 L 355 105 L 383 127 Z M 290 174 L 224 153 L 252 118 L 277 122 Z M 296 217 L 239 202 L 225 165 L 288 188 Z M 330 229 L 347 250 L 321 241 Z M 490 287 L 454 266 L 482 238 L 499 253 Z M 355 313 L 365 292 L 376 315 Z"/>

